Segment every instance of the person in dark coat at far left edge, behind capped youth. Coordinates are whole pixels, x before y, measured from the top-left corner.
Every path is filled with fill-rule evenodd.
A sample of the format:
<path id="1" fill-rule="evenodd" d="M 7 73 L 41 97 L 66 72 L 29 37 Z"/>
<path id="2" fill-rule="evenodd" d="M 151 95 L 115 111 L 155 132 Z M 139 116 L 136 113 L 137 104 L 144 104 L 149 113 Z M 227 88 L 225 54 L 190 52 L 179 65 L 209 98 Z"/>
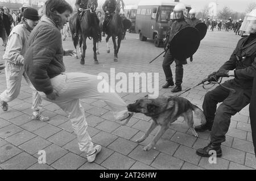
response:
<path id="1" fill-rule="evenodd" d="M 11 32 L 11 22 L 9 16 L 4 11 L 3 7 L 0 7 L 0 37 L 3 39 L 3 45 L 6 47 L 8 36 Z"/>

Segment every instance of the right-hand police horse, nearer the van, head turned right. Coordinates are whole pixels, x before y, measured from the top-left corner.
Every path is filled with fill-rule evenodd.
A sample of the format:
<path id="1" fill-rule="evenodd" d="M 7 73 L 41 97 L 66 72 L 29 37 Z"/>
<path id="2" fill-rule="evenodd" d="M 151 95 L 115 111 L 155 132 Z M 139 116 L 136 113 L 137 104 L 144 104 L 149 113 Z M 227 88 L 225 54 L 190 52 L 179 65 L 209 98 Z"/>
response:
<path id="1" fill-rule="evenodd" d="M 126 19 L 127 20 L 127 19 Z M 129 21 L 129 20 L 128 20 Z M 121 28 L 121 23 L 123 23 L 123 30 Z M 121 41 L 123 39 L 123 33 L 125 30 L 129 29 L 131 23 L 127 25 L 125 20 L 122 20 L 121 16 L 117 13 L 110 14 L 106 21 L 106 44 L 107 44 L 107 52 L 110 53 L 109 47 L 109 39 L 112 37 L 112 41 L 114 44 L 114 61 L 118 61 L 118 52 L 121 45 Z M 124 31 L 124 32 L 123 32 Z M 117 42 L 115 39 L 117 38 Z"/>

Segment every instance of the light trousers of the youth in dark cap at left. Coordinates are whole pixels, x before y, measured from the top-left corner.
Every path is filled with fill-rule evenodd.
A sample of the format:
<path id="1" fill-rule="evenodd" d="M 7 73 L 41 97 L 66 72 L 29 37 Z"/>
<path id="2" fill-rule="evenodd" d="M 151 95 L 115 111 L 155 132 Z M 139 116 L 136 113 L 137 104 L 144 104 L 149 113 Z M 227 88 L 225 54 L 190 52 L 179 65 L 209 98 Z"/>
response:
<path id="1" fill-rule="evenodd" d="M 7 89 L 2 92 L 0 99 L 8 103 L 18 97 L 22 76 L 26 80 L 28 86 L 30 86 L 32 89 L 32 110 L 39 111 L 42 108 L 42 98 L 30 82 L 27 74 L 24 72 L 23 65 L 16 65 L 9 61 L 5 61 L 5 77 Z"/>

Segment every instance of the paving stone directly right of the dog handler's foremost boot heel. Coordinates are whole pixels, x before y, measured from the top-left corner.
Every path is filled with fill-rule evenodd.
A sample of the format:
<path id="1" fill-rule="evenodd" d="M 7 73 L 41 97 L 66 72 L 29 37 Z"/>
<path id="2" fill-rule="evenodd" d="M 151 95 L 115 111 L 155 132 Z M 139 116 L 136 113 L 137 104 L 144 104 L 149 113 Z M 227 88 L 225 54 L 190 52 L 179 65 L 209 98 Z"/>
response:
<path id="1" fill-rule="evenodd" d="M 222 158 L 229 161 L 240 163 L 243 165 L 245 162 L 245 151 L 229 148 L 228 146 L 221 146 Z"/>

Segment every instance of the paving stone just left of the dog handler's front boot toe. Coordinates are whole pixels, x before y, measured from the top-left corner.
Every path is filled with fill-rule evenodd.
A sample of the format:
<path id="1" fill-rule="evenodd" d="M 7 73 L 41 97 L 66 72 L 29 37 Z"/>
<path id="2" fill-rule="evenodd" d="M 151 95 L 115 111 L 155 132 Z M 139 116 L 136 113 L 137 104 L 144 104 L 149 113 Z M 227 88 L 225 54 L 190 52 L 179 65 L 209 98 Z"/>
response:
<path id="1" fill-rule="evenodd" d="M 174 157 L 180 158 L 186 162 L 198 165 L 200 158 L 199 155 L 195 154 L 196 150 L 188 148 L 187 146 L 180 145 L 174 154 Z"/>

